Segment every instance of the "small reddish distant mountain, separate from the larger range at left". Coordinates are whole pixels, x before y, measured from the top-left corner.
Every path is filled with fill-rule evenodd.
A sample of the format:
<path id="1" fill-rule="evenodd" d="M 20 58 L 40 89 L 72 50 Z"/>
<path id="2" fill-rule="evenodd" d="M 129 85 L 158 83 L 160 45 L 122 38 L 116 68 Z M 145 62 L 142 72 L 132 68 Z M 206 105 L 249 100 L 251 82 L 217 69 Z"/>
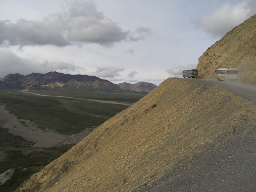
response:
<path id="1" fill-rule="evenodd" d="M 152 83 L 147 83 L 147 82 L 138 82 L 135 84 L 119 83 L 116 85 L 122 89 L 125 89 L 128 91 L 135 91 L 135 92 L 150 92 L 157 87 L 156 85 Z"/>

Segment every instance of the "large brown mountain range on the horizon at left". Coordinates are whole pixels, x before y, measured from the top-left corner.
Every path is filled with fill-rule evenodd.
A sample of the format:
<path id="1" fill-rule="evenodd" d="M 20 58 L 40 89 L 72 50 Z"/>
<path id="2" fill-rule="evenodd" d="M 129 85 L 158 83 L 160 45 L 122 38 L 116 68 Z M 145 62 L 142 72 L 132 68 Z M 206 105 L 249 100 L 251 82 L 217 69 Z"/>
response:
<path id="1" fill-rule="evenodd" d="M 0 87 L 27 89 L 66 89 L 104 92 L 125 92 L 108 80 L 88 75 L 70 75 L 58 72 L 29 75 L 9 74 L 0 79 Z"/>

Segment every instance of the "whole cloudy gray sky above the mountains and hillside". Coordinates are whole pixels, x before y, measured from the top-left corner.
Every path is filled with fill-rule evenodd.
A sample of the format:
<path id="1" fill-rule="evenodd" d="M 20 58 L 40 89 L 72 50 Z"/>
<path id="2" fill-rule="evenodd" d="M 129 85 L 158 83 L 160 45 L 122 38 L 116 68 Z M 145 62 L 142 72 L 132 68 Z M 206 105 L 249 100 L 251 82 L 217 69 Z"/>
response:
<path id="1" fill-rule="evenodd" d="M 254 14 L 256 0 L 0 0 L 0 78 L 57 71 L 159 85 Z"/>

